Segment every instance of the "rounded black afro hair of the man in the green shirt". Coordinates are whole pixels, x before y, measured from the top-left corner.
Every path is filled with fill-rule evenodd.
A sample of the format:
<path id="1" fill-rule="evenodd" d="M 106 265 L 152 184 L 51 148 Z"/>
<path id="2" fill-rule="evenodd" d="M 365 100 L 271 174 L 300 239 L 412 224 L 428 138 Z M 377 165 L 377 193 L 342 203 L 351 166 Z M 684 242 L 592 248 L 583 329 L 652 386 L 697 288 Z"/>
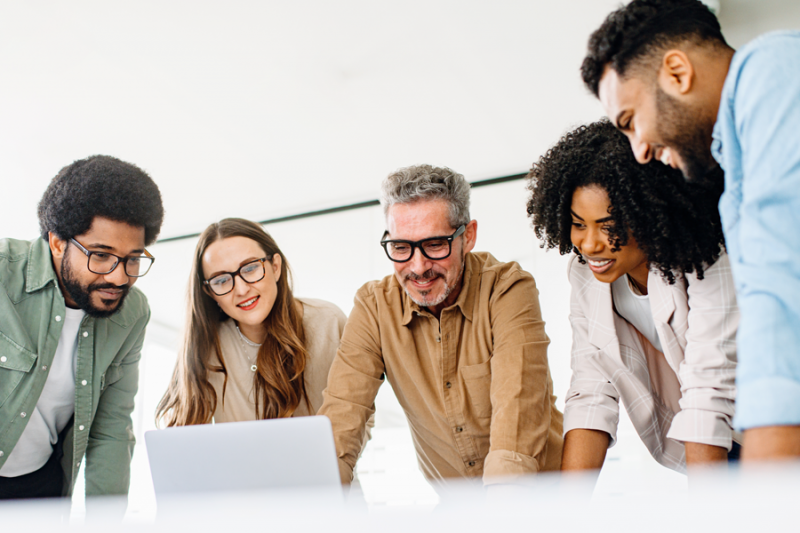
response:
<path id="1" fill-rule="evenodd" d="M 39 201 L 39 231 L 67 240 L 89 231 L 95 217 L 144 228 L 145 246 L 152 244 L 164 207 L 158 186 L 139 167 L 107 155 L 75 161 L 50 181 Z"/>

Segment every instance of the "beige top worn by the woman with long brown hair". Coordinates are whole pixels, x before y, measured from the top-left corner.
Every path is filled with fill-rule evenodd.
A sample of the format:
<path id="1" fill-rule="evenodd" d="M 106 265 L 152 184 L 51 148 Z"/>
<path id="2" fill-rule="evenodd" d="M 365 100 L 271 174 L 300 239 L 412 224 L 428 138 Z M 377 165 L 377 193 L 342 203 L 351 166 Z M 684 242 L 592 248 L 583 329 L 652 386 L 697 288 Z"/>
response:
<path id="1" fill-rule="evenodd" d="M 330 302 L 310 298 L 297 300 L 303 304 L 303 328 L 309 356 L 303 377 L 311 409 L 309 410 L 305 401 L 301 401 L 293 416 L 310 416 L 316 414 L 322 405 L 322 391 L 327 386 L 328 371 L 339 348 L 339 339 L 347 317 Z M 208 381 L 217 393 L 214 421 L 257 420 L 253 393 L 254 372 L 251 366 L 256 361 L 258 348 L 250 346 L 241 338 L 233 320 L 226 320 L 220 325 L 219 336 L 228 370 L 228 385 L 223 398 L 222 384 L 225 376 L 221 372 L 209 374 Z M 211 364 L 219 365 L 216 355 L 211 359 Z"/>

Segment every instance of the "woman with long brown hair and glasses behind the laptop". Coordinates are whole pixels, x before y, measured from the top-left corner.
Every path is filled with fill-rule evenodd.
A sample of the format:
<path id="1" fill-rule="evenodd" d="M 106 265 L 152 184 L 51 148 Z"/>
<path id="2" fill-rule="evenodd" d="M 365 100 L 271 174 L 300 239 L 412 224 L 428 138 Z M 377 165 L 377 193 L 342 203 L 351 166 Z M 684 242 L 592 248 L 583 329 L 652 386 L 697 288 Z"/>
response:
<path id="1" fill-rule="evenodd" d="M 332 303 L 295 298 L 290 278 L 260 225 L 226 218 L 206 228 L 157 420 L 185 426 L 316 413 L 346 317 Z"/>

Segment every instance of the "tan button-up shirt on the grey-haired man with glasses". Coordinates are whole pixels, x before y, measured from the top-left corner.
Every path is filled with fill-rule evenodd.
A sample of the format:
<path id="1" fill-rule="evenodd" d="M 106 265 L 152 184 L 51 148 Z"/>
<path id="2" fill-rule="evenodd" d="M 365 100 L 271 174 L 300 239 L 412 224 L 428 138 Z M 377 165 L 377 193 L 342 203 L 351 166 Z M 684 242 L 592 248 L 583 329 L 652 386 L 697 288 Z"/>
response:
<path id="1" fill-rule="evenodd" d="M 394 275 L 361 287 L 323 392 L 350 482 L 384 375 L 428 479 L 484 483 L 556 470 L 562 415 L 533 277 L 485 252 L 466 257 L 456 303 L 436 319 Z"/>

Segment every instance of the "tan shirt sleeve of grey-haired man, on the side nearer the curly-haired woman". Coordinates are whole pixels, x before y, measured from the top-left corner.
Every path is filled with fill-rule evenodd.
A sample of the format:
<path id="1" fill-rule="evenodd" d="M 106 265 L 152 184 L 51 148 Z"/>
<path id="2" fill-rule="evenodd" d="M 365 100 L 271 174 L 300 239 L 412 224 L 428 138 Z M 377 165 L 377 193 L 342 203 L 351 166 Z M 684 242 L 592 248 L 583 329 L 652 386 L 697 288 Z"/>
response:
<path id="1" fill-rule="evenodd" d="M 548 450 L 553 416 L 547 362 L 550 340 L 533 277 L 521 270 L 507 272 L 498 280 L 490 305 L 494 350 L 485 484 L 536 473 L 547 453 L 560 453 L 560 449 Z"/>

